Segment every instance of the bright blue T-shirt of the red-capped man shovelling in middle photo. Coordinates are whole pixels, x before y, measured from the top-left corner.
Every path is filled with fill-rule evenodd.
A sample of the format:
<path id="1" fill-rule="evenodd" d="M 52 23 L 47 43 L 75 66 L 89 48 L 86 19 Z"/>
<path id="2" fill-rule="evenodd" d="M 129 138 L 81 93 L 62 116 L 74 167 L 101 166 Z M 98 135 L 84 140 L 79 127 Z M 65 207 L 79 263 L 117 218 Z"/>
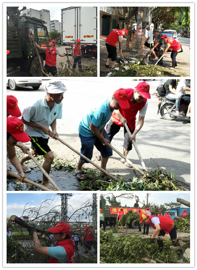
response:
<path id="1" fill-rule="evenodd" d="M 87 113 L 79 124 L 79 134 L 84 137 L 94 137 L 95 135 L 90 130 L 89 125 L 90 122 L 98 128 L 99 131 L 107 124 L 110 120 L 110 117 L 113 111 L 109 108 L 110 98 L 108 98 L 104 103 L 101 105 L 94 107 L 91 109 L 89 113 Z"/>

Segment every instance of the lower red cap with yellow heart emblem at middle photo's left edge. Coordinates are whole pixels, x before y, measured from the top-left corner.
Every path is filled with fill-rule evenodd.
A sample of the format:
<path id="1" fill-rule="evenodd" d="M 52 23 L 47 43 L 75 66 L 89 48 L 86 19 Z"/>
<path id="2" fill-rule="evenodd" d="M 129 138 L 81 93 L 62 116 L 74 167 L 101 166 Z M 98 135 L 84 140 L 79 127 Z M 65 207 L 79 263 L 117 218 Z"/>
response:
<path id="1" fill-rule="evenodd" d="M 27 143 L 31 140 L 24 131 L 23 121 L 15 116 L 7 117 L 7 132 L 21 143 Z"/>

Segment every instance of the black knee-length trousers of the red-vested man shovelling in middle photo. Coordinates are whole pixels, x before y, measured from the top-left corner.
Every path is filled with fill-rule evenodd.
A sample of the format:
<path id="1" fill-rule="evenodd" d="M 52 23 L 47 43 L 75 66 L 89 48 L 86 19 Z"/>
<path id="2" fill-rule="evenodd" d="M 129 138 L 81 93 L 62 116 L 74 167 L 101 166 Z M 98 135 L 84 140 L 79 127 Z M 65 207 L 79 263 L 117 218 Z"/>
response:
<path id="1" fill-rule="evenodd" d="M 129 127 L 129 126 L 128 126 Z M 109 136 L 109 139 L 110 139 L 110 143 L 114 137 L 114 135 L 116 135 L 118 133 L 118 131 L 120 130 L 120 126 L 116 125 L 111 119 L 106 127 L 106 131 L 107 131 L 107 134 Z M 131 134 L 133 134 L 135 128 L 133 130 L 131 130 L 129 128 L 129 130 L 131 131 Z M 126 149 L 126 150 L 131 150 L 132 149 L 132 142 L 130 142 L 130 139 L 129 139 L 129 134 L 128 132 L 126 131 L 126 128 L 124 127 L 124 144 L 123 144 L 123 147 Z"/>

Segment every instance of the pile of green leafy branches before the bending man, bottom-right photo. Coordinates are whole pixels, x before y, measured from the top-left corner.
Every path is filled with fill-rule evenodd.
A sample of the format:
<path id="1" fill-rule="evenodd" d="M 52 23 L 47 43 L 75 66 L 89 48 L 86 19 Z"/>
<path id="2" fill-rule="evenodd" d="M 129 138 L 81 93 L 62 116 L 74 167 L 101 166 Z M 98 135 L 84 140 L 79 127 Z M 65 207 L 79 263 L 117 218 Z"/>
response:
<path id="1" fill-rule="evenodd" d="M 170 239 L 163 242 L 162 252 L 159 252 L 157 242 L 150 244 L 149 240 L 141 239 L 142 235 L 114 237 L 112 231 L 102 232 L 100 230 L 100 261 L 105 263 L 146 263 L 140 260 L 140 258 L 146 257 L 171 263 L 171 261 L 179 259 L 177 252 L 169 247 Z M 134 253 L 136 258 L 131 253 Z"/>

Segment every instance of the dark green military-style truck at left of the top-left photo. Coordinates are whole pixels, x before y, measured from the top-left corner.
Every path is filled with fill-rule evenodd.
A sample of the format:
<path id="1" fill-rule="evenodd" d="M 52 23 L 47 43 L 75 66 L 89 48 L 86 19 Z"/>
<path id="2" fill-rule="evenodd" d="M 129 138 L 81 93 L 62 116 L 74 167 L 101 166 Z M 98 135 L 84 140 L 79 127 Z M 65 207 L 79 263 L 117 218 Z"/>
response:
<path id="1" fill-rule="evenodd" d="M 18 7 L 7 7 L 7 75 L 17 67 L 29 76 L 42 76 L 38 56 L 32 43 L 28 28 L 35 42 L 45 47 L 49 34 L 44 21 L 28 16 L 20 16 Z M 43 66 L 45 51 L 38 50 Z"/>

